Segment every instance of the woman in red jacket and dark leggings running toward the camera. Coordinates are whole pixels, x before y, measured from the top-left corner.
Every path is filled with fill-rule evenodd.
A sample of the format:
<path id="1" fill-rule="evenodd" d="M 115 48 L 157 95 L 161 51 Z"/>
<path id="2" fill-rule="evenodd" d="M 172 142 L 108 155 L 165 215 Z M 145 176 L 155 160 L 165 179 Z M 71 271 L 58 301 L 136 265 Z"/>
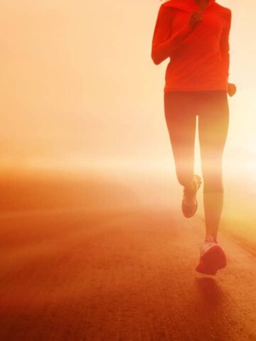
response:
<path id="1" fill-rule="evenodd" d="M 226 266 L 217 242 L 223 209 L 222 155 L 228 134 L 228 83 L 231 11 L 215 0 L 171 0 L 159 9 L 151 57 L 156 65 L 166 58 L 164 111 L 183 186 L 182 212 L 193 217 L 201 178 L 194 175 L 196 117 L 201 148 L 206 239 L 196 271 L 215 275 Z"/>

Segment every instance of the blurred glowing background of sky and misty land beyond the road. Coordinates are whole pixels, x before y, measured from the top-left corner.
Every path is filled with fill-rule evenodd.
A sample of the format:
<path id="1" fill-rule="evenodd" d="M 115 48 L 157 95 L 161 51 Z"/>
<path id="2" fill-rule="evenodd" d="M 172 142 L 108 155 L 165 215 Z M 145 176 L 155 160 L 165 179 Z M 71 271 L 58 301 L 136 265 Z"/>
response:
<path id="1" fill-rule="evenodd" d="M 168 207 L 170 193 L 180 198 L 164 120 L 167 61 L 156 66 L 150 56 L 160 4 L 0 0 L 2 214 L 110 203 L 157 208 Z M 256 243 L 256 4 L 220 4 L 233 11 L 230 82 L 238 87 L 223 229 Z M 198 155 L 197 144 L 200 173 Z"/>

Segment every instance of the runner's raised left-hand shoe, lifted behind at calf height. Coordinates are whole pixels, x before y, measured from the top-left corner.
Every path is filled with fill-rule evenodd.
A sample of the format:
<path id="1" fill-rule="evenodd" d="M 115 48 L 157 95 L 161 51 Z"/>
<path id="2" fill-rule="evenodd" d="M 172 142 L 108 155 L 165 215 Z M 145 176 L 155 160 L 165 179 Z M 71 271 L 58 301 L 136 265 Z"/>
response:
<path id="1" fill-rule="evenodd" d="M 196 213 L 198 202 L 196 199 L 196 193 L 201 186 L 201 178 L 198 175 L 194 175 L 192 180 L 191 189 L 184 188 L 183 200 L 182 200 L 182 212 L 184 217 L 191 218 Z"/>

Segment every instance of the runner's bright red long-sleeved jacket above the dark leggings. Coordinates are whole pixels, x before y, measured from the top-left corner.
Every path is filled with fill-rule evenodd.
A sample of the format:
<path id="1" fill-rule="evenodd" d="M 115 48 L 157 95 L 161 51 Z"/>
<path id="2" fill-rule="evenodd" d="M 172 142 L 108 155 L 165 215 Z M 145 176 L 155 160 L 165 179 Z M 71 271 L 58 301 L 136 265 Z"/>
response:
<path id="1" fill-rule="evenodd" d="M 159 9 L 151 56 L 155 64 L 170 58 L 164 91 L 227 91 L 231 11 L 209 0 L 192 29 L 194 11 L 195 0 L 167 1 Z"/>

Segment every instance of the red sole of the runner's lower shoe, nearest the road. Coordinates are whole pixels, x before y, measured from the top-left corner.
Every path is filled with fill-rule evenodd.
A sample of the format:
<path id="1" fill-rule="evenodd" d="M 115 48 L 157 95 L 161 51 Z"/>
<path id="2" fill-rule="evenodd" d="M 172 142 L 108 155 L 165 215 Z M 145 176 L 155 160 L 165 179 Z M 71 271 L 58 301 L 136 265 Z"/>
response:
<path id="1" fill-rule="evenodd" d="M 196 271 L 201 274 L 215 275 L 218 270 L 225 268 L 226 265 L 225 252 L 220 246 L 216 245 L 201 256 Z"/>

